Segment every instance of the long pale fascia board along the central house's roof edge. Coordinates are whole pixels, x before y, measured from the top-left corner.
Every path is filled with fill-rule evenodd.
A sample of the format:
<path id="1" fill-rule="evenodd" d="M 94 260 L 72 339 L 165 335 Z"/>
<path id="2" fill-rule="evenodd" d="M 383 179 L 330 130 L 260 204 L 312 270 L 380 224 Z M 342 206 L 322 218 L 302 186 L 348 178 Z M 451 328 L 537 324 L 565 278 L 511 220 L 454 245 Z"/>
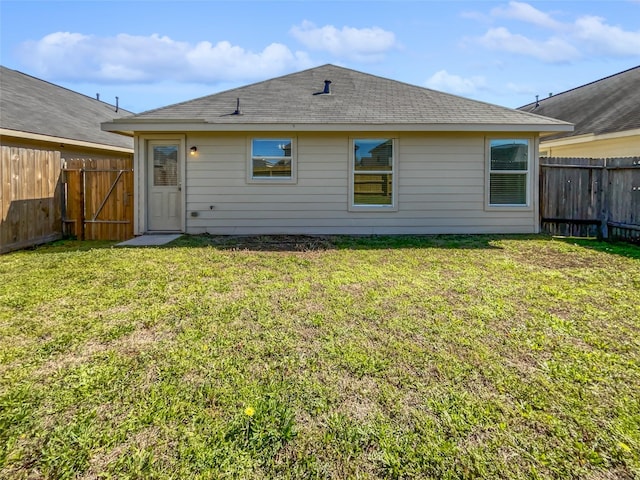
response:
<path id="1" fill-rule="evenodd" d="M 571 132 L 570 124 L 107 122 L 110 132 Z"/>

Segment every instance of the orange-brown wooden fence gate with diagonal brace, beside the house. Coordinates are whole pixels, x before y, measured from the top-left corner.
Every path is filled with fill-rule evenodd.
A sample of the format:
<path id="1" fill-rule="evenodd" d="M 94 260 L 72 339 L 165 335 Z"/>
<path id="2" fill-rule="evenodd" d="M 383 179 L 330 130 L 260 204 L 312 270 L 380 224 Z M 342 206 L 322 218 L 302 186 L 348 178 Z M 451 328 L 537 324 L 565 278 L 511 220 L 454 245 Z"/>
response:
<path id="1" fill-rule="evenodd" d="M 73 159 L 64 168 L 65 233 L 79 240 L 133 237 L 131 159 Z"/>

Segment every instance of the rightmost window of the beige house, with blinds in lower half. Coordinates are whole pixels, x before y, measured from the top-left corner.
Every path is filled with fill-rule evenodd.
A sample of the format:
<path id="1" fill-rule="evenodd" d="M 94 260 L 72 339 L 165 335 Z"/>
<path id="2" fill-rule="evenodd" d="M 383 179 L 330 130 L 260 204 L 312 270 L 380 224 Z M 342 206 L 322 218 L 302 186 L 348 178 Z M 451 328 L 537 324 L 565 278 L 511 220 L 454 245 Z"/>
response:
<path id="1" fill-rule="evenodd" d="M 489 141 L 489 206 L 529 205 L 529 140 Z"/>

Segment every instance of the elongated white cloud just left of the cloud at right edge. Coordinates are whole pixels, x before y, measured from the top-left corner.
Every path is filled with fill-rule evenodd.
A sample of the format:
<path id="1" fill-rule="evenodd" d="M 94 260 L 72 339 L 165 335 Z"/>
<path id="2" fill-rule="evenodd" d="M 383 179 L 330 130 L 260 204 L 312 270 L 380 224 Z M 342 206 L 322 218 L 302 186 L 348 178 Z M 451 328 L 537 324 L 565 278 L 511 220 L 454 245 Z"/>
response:
<path id="1" fill-rule="evenodd" d="M 480 37 L 479 42 L 492 50 L 527 55 L 549 63 L 568 62 L 581 56 L 578 49 L 562 38 L 535 41 L 524 35 L 511 33 L 504 27 L 489 29 Z"/>

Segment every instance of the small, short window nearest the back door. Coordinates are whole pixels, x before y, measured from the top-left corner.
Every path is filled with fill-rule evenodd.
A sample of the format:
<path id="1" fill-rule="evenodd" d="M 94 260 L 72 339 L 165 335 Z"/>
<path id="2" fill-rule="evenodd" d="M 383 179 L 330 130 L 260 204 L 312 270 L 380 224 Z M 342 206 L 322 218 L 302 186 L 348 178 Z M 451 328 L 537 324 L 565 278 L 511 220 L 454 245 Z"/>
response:
<path id="1" fill-rule="evenodd" d="M 254 138 L 248 180 L 251 182 L 295 182 L 291 138 Z"/>

